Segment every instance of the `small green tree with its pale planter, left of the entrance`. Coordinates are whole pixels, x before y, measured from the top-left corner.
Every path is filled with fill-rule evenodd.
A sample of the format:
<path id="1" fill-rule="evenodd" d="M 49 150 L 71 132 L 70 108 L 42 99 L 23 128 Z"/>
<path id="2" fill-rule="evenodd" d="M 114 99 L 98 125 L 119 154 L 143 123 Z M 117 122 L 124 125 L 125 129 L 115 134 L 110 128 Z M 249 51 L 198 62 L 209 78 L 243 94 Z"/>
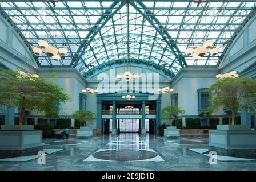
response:
<path id="1" fill-rule="evenodd" d="M 77 137 L 87 137 L 93 135 L 93 129 L 86 126 L 86 122 L 94 122 L 96 119 L 95 113 L 90 110 L 74 111 L 72 118 L 82 122 L 82 127 L 77 129 Z"/>

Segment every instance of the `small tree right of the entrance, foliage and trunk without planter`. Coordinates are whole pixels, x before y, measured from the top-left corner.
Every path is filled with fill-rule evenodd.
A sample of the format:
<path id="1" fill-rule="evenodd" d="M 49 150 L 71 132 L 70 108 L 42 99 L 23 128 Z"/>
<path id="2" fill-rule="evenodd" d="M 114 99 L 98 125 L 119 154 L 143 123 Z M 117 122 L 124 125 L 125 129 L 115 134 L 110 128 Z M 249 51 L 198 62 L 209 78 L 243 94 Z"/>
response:
<path id="1" fill-rule="evenodd" d="M 183 109 L 180 109 L 177 106 L 166 106 L 161 111 L 161 119 L 170 119 L 170 126 L 172 126 L 172 120 L 177 118 L 179 114 L 185 114 L 186 111 Z"/>

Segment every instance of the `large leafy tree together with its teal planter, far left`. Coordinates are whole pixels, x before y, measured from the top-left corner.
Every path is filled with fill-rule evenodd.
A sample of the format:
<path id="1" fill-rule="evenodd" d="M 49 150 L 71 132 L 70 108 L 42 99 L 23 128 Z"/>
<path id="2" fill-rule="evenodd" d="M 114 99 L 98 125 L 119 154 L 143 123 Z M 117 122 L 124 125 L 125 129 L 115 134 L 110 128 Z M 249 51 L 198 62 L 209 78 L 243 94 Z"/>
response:
<path id="1" fill-rule="evenodd" d="M 34 130 L 33 125 L 22 125 L 25 111 L 45 111 L 46 115 L 57 117 L 57 103 L 69 100 L 69 96 L 58 85 L 23 71 L 1 69 L 0 80 L 0 104 L 20 107 L 19 125 L 1 125 L 2 137 L 18 138 L 14 143 L 2 141 L 0 155 L 37 154 L 42 149 L 42 131 Z"/>

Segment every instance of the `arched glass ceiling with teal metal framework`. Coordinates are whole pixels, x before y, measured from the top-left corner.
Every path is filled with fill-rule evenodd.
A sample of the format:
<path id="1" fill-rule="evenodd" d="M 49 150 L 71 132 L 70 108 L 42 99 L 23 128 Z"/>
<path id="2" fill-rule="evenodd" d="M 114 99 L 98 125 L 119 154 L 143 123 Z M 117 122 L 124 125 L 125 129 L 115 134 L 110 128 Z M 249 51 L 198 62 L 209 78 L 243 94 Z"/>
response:
<path id="1" fill-rule="evenodd" d="M 256 1 L 59 1 L 0 2 L 1 14 L 21 36 L 36 46 L 38 39 L 69 50 L 65 59 L 36 57 L 38 65 L 77 68 L 85 77 L 102 65 L 130 62 L 163 70 L 171 77 L 186 65 L 216 65 L 243 22 L 255 12 Z M 220 52 L 193 61 L 185 56 L 190 43 L 207 39 Z M 229 44 L 223 46 L 223 42 Z M 96 69 L 97 68 L 97 69 Z"/>

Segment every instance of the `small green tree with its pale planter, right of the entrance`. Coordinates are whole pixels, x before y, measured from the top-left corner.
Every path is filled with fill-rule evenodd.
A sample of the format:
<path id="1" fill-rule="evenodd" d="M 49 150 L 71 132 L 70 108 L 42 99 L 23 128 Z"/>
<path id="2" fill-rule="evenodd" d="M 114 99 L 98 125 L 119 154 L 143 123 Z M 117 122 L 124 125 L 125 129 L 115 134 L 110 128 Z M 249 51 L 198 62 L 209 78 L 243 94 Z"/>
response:
<path id="1" fill-rule="evenodd" d="M 179 136 L 179 129 L 177 127 L 172 126 L 173 119 L 177 119 L 179 114 L 185 114 L 186 111 L 183 109 L 180 109 L 177 106 L 166 106 L 165 108 L 162 109 L 161 111 L 161 119 L 170 119 L 170 127 L 166 127 L 164 129 L 164 134 L 165 136 Z"/>

